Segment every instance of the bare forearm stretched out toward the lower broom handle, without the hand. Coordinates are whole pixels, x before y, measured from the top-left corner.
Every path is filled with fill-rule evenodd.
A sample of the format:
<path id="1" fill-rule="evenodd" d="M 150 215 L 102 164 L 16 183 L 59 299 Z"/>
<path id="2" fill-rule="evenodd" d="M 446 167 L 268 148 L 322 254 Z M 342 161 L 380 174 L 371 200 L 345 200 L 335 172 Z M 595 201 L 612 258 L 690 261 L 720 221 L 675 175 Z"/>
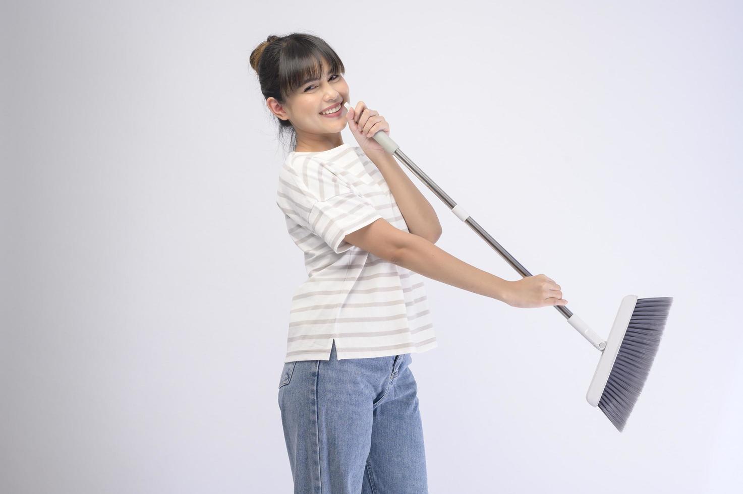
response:
<path id="1" fill-rule="evenodd" d="M 441 250 L 425 238 L 410 235 L 392 262 L 426 278 L 507 303 L 510 283 Z"/>

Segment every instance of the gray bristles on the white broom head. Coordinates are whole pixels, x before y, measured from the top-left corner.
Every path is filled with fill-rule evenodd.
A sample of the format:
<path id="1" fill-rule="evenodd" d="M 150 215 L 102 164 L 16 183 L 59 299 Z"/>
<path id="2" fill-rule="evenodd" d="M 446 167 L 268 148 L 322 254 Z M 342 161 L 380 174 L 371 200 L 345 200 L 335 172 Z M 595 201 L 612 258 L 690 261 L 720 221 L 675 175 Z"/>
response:
<path id="1" fill-rule="evenodd" d="M 598 407 L 611 423 L 624 429 L 645 386 L 652 361 L 661 344 L 672 297 L 637 299 Z"/>

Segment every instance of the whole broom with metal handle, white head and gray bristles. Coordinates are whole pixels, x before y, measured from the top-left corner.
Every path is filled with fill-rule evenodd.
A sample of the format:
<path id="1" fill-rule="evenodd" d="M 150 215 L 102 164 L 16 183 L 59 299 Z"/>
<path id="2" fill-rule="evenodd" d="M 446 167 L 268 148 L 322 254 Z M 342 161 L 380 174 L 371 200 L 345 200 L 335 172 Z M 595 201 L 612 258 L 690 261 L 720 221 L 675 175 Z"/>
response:
<path id="1" fill-rule="evenodd" d="M 350 103 L 346 102 L 343 105 L 348 110 Z M 421 179 L 457 218 L 475 230 L 521 276 L 532 276 L 519 261 L 513 259 L 513 256 L 488 235 L 463 207 L 452 201 L 446 192 L 400 151 L 400 146 L 384 131 L 377 131 L 372 137 L 386 152 L 397 157 Z M 598 406 L 619 432 L 624 430 L 637 398 L 645 386 L 655 354 L 658 353 L 658 345 L 661 343 L 672 300 L 672 297 L 639 299 L 636 295 L 625 296 L 606 340 L 599 337 L 583 319 L 568 310 L 565 305 L 554 306 L 578 333 L 601 352 L 585 399 L 591 406 Z"/>

